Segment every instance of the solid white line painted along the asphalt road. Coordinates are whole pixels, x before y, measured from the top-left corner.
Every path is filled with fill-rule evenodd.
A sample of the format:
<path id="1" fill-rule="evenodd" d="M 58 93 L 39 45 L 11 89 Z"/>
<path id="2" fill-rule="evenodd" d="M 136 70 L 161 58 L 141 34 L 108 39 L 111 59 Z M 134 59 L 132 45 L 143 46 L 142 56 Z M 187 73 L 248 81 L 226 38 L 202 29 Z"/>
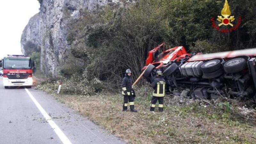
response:
<path id="1" fill-rule="evenodd" d="M 58 137 L 60 138 L 60 140 L 64 143 L 64 144 L 71 144 L 71 142 L 68 140 L 68 138 L 66 137 L 66 135 L 60 130 L 60 128 L 58 127 L 57 124 L 54 123 L 54 121 L 52 120 L 52 118 L 47 114 L 47 112 L 44 110 L 44 108 L 42 108 L 42 106 L 37 102 L 37 100 L 33 97 L 33 95 L 28 91 L 28 89 L 25 89 L 26 92 L 28 93 L 29 97 L 31 98 L 31 100 L 33 100 L 33 102 L 35 103 L 36 107 L 40 110 L 40 112 L 43 114 L 44 118 L 46 119 L 46 121 L 50 124 L 50 126 L 52 127 L 52 129 L 54 130 L 54 132 L 58 135 Z"/>

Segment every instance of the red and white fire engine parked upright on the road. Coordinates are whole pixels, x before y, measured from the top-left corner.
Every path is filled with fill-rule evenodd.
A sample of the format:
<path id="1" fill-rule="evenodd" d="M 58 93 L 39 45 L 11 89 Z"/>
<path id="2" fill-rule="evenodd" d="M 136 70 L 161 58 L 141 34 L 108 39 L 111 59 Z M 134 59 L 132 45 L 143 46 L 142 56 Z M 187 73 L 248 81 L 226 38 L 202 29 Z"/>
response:
<path id="1" fill-rule="evenodd" d="M 33 86 L 32 68 L 34 61 L 26 55 L 8 55 L 0 61 L 3 69 L 4 88 L 12 86 Z"/>

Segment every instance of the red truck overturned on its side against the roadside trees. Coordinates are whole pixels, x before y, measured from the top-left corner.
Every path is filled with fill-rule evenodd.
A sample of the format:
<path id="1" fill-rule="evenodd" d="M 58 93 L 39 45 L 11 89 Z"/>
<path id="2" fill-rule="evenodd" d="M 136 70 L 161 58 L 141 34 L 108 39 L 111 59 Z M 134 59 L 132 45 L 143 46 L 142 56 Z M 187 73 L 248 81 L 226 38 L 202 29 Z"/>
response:
<path id="1" fill-rule="evenodd" d="M 166 92 L 190 89 L 196 99 L 252 98 L 256 100 L 256 48 L 210 54 L 189 54 L 183 46 L 148 52 L 143 76 L 152 83 L 162 70 Z"/>

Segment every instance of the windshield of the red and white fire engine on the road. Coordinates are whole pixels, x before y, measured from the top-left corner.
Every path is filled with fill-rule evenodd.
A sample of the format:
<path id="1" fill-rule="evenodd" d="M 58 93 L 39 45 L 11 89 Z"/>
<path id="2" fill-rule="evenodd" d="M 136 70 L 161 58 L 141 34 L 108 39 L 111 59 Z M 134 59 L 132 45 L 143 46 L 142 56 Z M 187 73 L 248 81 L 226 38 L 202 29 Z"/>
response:
<path id="1" fill-rule="evenodd" d="M 4 60 L 5 69 L 30 69 L 29 60 Z"/>

